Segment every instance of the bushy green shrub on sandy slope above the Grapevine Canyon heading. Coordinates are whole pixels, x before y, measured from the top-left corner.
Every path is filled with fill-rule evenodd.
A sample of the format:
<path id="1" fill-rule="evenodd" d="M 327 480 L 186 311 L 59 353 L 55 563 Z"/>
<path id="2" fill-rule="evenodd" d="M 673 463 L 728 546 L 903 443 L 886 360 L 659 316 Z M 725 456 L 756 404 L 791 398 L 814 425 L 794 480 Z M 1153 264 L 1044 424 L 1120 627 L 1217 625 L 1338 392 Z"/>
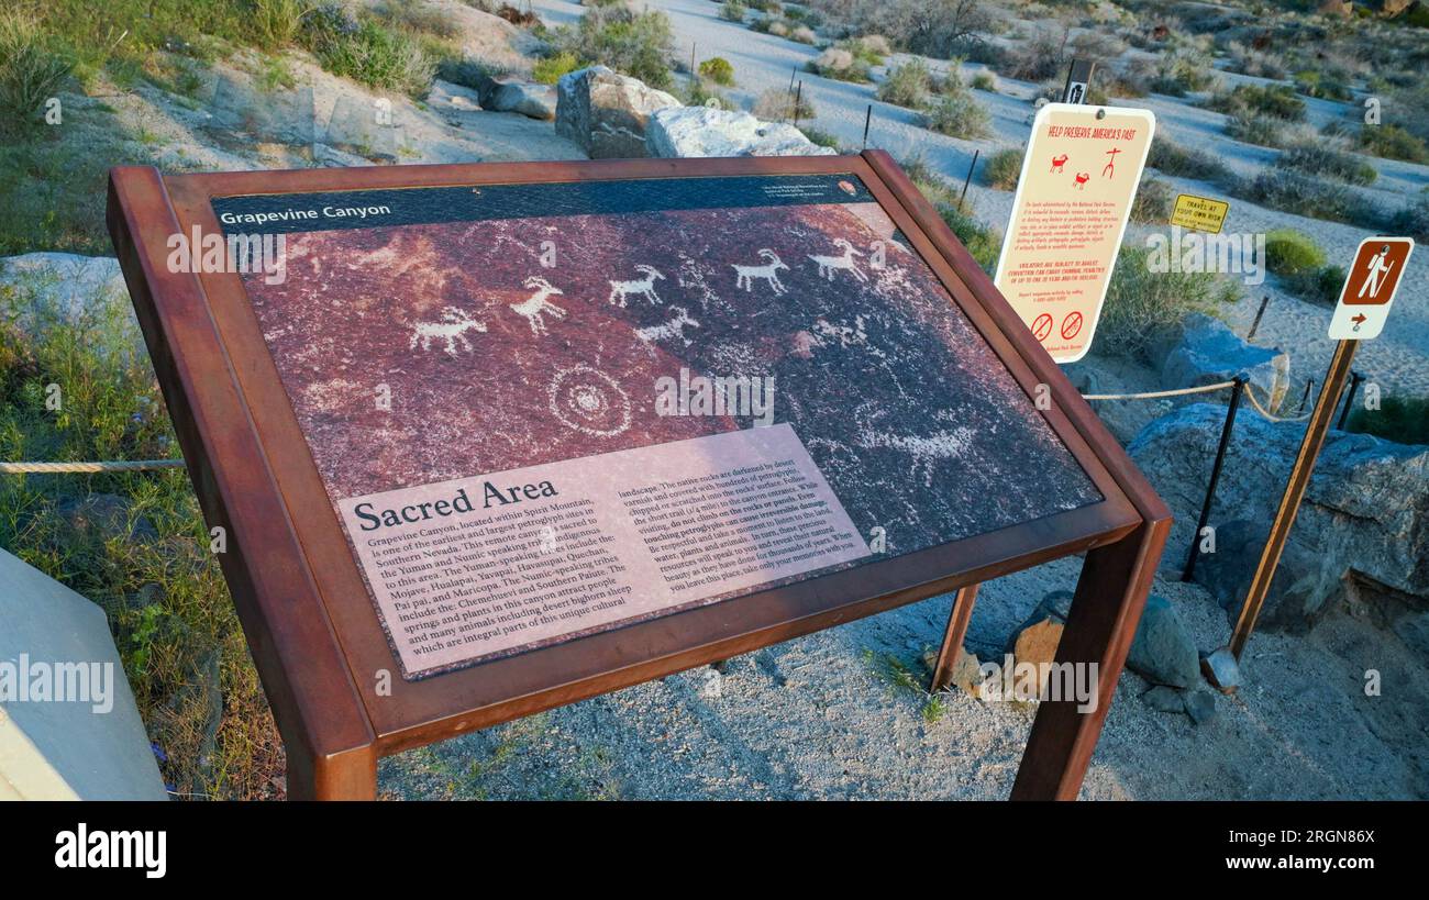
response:
<path id="1" fill-rule="evenodd" d="M 369 87 L 423 97 L 436 76 L 436 60 L 409 31 L 374 19 L 353 20 L 340 6 L 304 16 L 302 43 L 327 71 Z"/>

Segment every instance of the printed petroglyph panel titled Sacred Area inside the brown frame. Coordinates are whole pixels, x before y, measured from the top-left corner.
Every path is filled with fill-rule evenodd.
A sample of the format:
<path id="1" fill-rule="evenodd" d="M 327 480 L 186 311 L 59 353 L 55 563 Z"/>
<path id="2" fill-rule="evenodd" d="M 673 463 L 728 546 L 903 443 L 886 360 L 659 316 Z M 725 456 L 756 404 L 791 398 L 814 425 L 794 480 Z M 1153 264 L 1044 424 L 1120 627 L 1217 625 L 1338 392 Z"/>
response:
<path id="1" fill-rule="evenodd" d="M 393 210 L 277 226 L 286 281 L 244 286 L 409 677 L 1102 500 L 852 176 L 350 193 L 214 207 L 279 223 L 334 199 Z M 765 409 L 659 403 L 662 384 L 722 379 Z M 777 440 L 702 443 L 766 430 Z M 716 534 L 710 493 L 633 506 L 652 471 L 732 496 L 746 466 L 797 473 L 790 490 L 829 516 L 800 530 L 827 543 L 772 560 L 773 526 L 795 520 L 752 537 L 752 494 Z M 554 517 L 577 501 L 579 519 Z M 656 524 L 677 546 L 656 546 Z M 566 570 L 566 534 L 609 540 Z M 759 549 L 706 554 L 740 541 Z"/>

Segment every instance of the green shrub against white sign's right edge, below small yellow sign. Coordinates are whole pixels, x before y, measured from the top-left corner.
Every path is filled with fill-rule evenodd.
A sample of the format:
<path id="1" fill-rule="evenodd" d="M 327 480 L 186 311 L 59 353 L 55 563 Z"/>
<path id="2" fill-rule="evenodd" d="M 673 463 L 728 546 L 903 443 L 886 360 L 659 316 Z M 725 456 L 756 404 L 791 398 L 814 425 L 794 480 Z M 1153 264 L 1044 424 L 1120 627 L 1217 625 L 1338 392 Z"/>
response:
<path id="1" fill-rule="evenodd" d="M 1190 313 L 1216 314 L 1219 281 L 1205 271 L 1153 271 L 1149 249 L 1123 246 L 1102 306 L 1097 351 L 1160 364 L 1149 357 L 1152 347 Z"/>

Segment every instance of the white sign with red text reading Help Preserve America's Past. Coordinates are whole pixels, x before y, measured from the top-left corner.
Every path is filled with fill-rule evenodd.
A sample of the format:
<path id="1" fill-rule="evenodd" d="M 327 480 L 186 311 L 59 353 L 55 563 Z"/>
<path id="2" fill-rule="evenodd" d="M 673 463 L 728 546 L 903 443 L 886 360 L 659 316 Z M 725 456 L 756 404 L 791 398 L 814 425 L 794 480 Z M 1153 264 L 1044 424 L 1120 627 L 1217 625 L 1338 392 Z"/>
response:
<path id="1" fill-rule="evenodd" d="M 1059 363 L 1086 356 L 1156 119 L 1049 103 L 1032 123 L 993 281 Z"/>

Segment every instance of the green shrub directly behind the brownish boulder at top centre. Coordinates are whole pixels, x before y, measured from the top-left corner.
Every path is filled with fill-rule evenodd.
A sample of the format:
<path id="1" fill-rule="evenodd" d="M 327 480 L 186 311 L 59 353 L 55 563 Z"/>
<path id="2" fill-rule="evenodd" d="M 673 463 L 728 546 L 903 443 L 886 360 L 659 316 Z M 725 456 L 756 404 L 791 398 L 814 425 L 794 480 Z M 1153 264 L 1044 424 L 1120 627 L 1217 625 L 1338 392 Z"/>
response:
<path id="1" fill-rule="evenodd" d="M 557 53 L 570 53 L 586 64 L 599 63 L 640 79 L 650 87 L 670 87 L 670 19 L 660 11 L 632 13 L 623 6 L 594 7 L 576 27 L 552 33 Z"/>

